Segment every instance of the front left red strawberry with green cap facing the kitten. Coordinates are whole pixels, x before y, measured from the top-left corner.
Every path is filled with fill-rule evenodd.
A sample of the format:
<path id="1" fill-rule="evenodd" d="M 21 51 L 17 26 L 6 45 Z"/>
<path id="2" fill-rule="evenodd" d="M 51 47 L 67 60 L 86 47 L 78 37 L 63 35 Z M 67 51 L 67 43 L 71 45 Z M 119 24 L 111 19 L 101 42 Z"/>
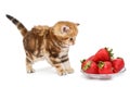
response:
<path id="1" fill-rule="evenodd" d="M 82 63 L 82 71 L 84 71 L 86 73 L 91 73 L 91 74 L 98 74 L 98 64 L 93 61 L 84 61 Z"/>

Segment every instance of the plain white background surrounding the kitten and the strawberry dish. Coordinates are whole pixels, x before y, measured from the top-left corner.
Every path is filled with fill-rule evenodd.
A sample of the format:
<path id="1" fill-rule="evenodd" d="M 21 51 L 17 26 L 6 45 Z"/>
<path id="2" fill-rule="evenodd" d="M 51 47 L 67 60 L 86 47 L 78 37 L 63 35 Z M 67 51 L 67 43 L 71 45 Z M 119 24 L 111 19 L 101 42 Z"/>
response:
<path id="1" fill-rule="evenodd" d="M 79 23 L 76 45 L 69 58 L 74 74 L 58 76 L 46 61 L 37 62 L 35 74 L 26 74 L 23 37 L 5 17 L 11 14 L 28 29 L 54 25 L 57 21 Z M 0 87 L 123 87 L 130 86 L 130 1 L 129 0 L 0 0 Z M 108 80 L 88 79 L 80 60 L 100 48 L 114 49 L 127 71 Z"/>

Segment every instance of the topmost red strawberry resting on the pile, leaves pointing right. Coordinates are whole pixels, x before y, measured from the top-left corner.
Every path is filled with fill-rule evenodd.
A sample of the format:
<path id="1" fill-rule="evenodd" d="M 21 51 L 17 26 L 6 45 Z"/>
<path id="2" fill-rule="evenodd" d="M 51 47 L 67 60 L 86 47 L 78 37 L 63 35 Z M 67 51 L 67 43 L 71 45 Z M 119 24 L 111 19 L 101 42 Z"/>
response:
<path id="1" fill-rule="evenodd" d="M 100 49 L 95 53 L 93 61 L 95 61 L 95 62 L 99 62 L 99 61 L 110 61 L 110 58 L 113 57 L 112 51 L 113 51 L 113 49 L 108 50 L 108 48 Z"/>

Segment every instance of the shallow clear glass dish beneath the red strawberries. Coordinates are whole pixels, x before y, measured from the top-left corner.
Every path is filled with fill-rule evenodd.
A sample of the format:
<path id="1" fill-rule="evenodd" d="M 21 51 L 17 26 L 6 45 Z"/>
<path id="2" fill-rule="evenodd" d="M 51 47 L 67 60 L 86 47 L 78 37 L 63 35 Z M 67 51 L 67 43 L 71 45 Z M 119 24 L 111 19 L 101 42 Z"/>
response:
<path id="1" fill-rule="evenodd" d="M 82 74 L 89 78 L 94 78 L 94 79 L 109 79 L 114 76 L 120 75 L 126 71 L 126 67 L 123 67 L 119 73 L 114 73 L 114 74 L 89 74 L 83 71 Z"/>

